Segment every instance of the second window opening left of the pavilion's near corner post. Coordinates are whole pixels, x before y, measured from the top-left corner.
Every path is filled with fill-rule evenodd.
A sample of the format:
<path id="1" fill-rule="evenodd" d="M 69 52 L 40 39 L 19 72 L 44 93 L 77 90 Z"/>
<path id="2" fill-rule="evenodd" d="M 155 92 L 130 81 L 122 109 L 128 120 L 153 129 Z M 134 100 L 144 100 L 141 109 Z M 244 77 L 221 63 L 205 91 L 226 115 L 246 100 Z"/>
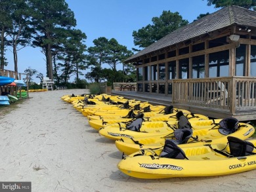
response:
<path id="1" fill-rule="evenodd" d="M 192 78 L 204 78 L 205 65 L 204 55 L 192 58 Z"/>

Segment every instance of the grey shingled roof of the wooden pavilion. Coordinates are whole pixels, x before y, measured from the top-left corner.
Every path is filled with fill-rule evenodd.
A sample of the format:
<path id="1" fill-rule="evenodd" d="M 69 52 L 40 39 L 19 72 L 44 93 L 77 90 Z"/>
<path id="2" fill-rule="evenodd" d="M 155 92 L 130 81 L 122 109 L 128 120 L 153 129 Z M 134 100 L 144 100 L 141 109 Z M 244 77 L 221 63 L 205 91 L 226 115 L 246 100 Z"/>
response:
<path id="1" fill-rule="evenodd" d="M 225 7 L 169 33 L 156 41 L 156 43 L 127 58 L 125 62 L 133 62 L 133 60 L 144 54 L 149 54 L 150 52 L 232 25 L 256 27 L 256 12 L 237 6 Z"/>

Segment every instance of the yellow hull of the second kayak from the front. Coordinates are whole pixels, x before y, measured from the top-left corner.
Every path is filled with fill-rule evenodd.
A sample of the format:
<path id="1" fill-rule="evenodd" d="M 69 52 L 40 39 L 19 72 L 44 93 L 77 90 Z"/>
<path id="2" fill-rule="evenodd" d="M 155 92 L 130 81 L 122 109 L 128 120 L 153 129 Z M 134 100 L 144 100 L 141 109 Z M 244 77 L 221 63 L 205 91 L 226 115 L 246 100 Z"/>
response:
<path id="1" fill-rule="evenodd" d="M 203 120 L 198 122 L 205 121 Z M 193 126 L 193 122 L 191 122 L 191 124 Z M 226 141 L 227 136 L 234 136 L 236 138 L 246 140 L 255 132 L 253 126 L 246 123 L 240 123 L 238 130 L 231 134 L 223 134 L 223 132 L 220 132 L 220 130 L 220 126 L 216 126 L 215 128 L 211 128 L 211 126 L 209 126 L 209 128 L 193 130 L 193 138 L 190 138 L 187 144 L 181 145 L 183 145 L 184 147 L 194 147 L 205 144 L 218 144 Z M 162 147 L 165 144 L 165 140 L 169 138 L 169 136 L 169 134 L 165 133 L 161 135 L 158 134 L 156 136 L 146 136 L 141 138 L 122 137 L 121 140 L 117 140 L 115 143 L 119 151 L 129 155 L 131 153 L 139 151 L 140 149 L 154 149 Z M 194 138 L 197 138 L 197 140 L 195 140 Z"/>

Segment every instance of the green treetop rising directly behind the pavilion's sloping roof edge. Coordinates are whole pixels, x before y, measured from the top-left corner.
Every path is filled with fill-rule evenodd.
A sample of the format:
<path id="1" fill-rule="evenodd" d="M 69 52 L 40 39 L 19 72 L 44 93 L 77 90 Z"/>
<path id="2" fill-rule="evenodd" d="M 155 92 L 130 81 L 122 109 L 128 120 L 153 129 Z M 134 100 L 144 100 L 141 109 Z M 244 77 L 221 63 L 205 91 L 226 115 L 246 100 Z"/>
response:
<path id="1" fill-rule="evenodd" d="M 159 18 L 152 18 L 152 23 L 152 25 L 148 24 L 138 31 L 133 31 L 133 42 L 135 45 L 139 47 L 148 47 L 172 31 L 186 26 L 188 20 L 183 20 L 182 16 L 179 15 L 179 12 L 163 10 Z"/>

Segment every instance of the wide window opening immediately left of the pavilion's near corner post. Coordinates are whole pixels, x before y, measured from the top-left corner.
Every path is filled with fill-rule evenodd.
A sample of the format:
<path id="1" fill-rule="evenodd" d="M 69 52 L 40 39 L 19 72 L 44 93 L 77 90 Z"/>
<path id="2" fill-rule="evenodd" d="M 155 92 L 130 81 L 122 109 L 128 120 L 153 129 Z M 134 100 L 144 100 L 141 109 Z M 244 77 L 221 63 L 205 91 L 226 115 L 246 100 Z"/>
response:
<path id="1" fill-rule="evenodd" d="M 209 54 L 209 77 L 226 77 L 229 72 L 229 50 Z"/>

